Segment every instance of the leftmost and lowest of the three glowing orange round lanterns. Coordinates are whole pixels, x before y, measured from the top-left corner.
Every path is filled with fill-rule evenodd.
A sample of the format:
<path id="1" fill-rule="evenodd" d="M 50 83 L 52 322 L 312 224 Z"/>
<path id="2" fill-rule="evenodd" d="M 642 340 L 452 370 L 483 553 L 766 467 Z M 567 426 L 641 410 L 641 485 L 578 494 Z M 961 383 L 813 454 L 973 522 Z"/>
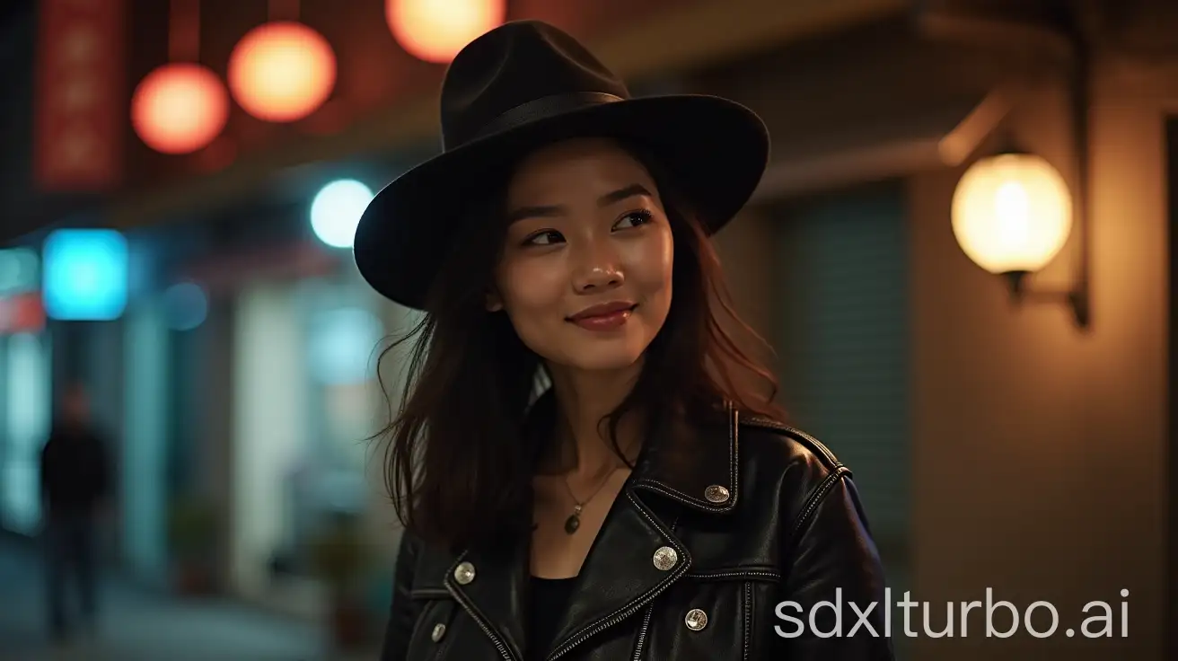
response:
<path id="1" fill-rule="evenodd" d="M 131 124 L 151 148 L 183 154 L 213 140 L 229 120 L 229 94 L 217 74 L 191 62 L 148 73 L 131 100 Z"/>

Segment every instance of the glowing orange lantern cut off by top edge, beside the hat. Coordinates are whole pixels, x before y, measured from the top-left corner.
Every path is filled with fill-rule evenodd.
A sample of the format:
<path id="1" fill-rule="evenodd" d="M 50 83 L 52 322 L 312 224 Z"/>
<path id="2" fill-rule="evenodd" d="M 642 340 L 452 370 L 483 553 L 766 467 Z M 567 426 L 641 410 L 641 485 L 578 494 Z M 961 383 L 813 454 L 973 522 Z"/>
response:
<path id="1" fill-rule="evenodd" d="M 410 55 L 444 64 L 475 38 L 498 27 L 504 0 L 385 0 L 389 29 Z"/>

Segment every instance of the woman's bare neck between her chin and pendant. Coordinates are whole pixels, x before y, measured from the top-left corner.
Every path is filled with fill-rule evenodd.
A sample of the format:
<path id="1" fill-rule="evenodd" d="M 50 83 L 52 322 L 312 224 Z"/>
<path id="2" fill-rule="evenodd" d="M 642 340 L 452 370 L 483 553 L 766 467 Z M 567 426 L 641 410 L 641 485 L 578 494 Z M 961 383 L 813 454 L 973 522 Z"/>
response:
<path id="1" fill-rule="evenodd" d="M 634 389 L 641 363 L 624 370 L 582 371 L 552 365 L 549 374 L 556 395 L 557 424 L 552 451 L 543 462 L 544 472 L 600 475 L 620 460 L 602 419 Z M 627 414 L 617 425 L 617 444 L 634 461 L 642 442 L 641 419 Z"/>

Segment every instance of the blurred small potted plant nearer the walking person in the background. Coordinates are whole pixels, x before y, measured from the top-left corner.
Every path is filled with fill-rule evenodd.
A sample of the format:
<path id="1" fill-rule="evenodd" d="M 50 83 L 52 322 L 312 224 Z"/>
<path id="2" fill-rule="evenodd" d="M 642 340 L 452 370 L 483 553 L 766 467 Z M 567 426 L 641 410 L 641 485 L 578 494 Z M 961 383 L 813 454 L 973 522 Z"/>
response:
<path id="1" fill-rule="evenodd" d="M 168 550 L 177 591 L 204 595 L 212 591 L 217 511 L 212 504 L 185 497 L 172 504 L 168 516 Z"/>

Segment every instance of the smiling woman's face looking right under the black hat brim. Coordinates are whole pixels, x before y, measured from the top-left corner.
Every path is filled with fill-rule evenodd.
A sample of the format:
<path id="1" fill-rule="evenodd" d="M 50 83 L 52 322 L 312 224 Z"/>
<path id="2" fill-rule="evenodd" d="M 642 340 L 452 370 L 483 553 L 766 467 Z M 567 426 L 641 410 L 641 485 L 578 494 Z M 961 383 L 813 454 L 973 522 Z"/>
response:
<path id="1" fill-rule="evenodd" d="M 532 153 L 508 186 L 490 310 L 554 365 L 635 364 L 667 319 L 674 246 L 654 179 L 607 140 Z"/>

